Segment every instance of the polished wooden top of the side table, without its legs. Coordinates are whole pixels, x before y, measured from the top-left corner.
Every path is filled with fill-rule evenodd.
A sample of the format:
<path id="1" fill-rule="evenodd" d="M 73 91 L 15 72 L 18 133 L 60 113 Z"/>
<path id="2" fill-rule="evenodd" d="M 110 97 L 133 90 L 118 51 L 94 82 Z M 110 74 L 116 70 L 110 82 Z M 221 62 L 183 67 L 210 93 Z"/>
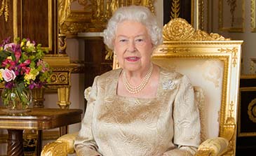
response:
<path id="1" fill-rule="evenodd" d="M 0 108 L 0 129 L 53 129 L 81 122 L 80 109 L 30 108 L 22 114 L 9 114 Z"/>

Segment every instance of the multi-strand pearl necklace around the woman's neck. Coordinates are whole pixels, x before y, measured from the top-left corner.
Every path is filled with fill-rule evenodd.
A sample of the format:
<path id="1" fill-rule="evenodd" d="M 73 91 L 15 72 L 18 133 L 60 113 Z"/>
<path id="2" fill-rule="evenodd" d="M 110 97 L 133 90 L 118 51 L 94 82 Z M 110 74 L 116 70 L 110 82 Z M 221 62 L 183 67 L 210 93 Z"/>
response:
<path id="1" fill-rule="evenodd" d="M 142 83 L 140 83 L 140 85 L 137 85 L 135 87 L 133 85 L 130 85 L 129 81 L 127 80 L 126 71 L 123 71 L 123 85 L 124 85 L 124 87 L 131 94 L 136 94 L 136 93 L 140 92 L 141 90 L 143 90 L 143 88 L 149 82 L 149 78 L 151 77 L 152 71 L 153 71 L 153 65 L 151 64 L 149 70 L 147 71 L 146 76 L 142 80 Z"/>

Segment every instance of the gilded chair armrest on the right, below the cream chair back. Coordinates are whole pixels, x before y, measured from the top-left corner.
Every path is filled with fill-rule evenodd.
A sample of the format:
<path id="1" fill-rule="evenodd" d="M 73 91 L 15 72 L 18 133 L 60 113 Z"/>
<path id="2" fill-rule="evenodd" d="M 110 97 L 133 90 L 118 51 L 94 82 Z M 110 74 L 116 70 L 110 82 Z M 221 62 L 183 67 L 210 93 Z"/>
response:
<path id="1" fill-rule="evenodd" d="M 227 151 L 229 141 L 222 137 L 207 139 L 198 147 L 196 156 L 219 156 Z"/>

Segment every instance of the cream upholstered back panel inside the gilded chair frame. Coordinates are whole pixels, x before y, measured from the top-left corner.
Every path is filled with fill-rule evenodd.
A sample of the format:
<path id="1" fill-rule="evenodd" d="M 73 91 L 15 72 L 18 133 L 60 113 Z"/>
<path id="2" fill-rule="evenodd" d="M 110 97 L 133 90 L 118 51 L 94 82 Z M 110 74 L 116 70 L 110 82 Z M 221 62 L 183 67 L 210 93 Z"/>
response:
<path id="1" fill-rule="evenodd" d="M 219 132 L 219 122 L 217 122 L 218 111 L 222 100 L 222 80 L 223 80 L 223 62 L 212 59 L 154 59 L 156 64 L 174 69 L 180 73 L 186 74 L 194 86 L 200 86 L 205 97 L 204 112 L 206 118 L 201 122 L 206 129 L 204 134 L 206 138 L 217 137 Z M 196 73 L 196 74 L 195 74 Z M 219 105 L 216 105 L 219 104 Z M 213 129 L 212 127 L 216 127 Z"/>

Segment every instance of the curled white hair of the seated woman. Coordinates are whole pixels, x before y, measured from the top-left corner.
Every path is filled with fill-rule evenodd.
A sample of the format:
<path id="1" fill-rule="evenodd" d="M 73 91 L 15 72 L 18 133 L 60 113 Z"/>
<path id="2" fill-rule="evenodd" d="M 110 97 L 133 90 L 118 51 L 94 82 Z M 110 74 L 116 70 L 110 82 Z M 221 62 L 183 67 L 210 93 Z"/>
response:
<path id="1" fill-rule="evenodd" d="M 144 24 L 147 28 L 151 42 L 154 46 L 162 42 L 162 29 L 156 21 L 156 17 L 151 11 L 144 6 L 124 6 L 117 9 L 113 16 L 109 19 L 107 29 L 103 32 L 104 43 L 110 48 L 114 49 L 113 41 L 116 38 L 117 24 L 125 20 L 134 20 Z"/>

